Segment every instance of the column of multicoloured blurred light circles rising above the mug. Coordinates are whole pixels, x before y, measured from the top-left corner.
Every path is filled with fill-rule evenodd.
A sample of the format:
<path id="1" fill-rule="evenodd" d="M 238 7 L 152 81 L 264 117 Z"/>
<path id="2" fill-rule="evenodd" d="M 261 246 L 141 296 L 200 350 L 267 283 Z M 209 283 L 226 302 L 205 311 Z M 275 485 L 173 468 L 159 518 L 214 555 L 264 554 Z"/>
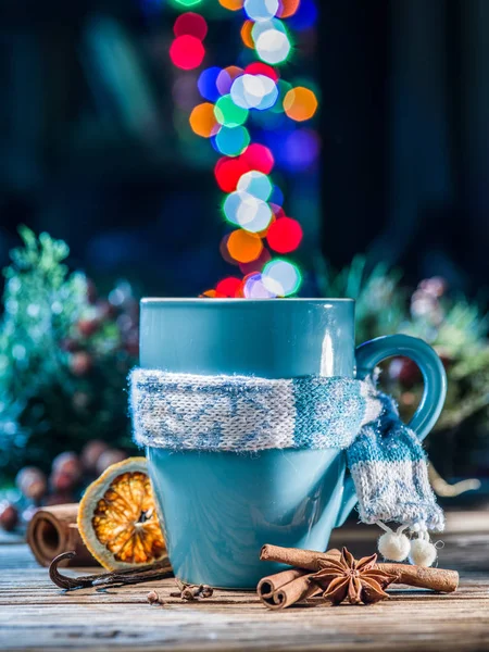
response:
<path id="1" fill-rule="evenodd" d="M 191 71 L 205 57 L 202 40 L 208 34 L 208 22 L 187 11 L 201 4 L 201 0 L 173 0 L 173 3 L 180 5 L 183 13 L 174 24 L 171 59 L 177 67 Z M 215 163 L 214 175 L 226 193 L 223 213 L 227 222 L 238 227 L 223 237 L 220 250 L 225 261 L 238 265 L 243 278 L 239 274 L 223 278 L 203 296 L 288 297 L 301 284 L 300 269 L 293 262 L 274 259 L 273 254 L 294 251 L 303 233 L 297 220 L 286 216 L 281 189 L 275 185 L 275 177 L 268 175 L 275 165 L 278 172 L 293 173 L 314 164 L 319 151 L 317 133 L 293 123 L 314 117 L 318 102 L 315 92 L 308 88 L 308 79 L 304 84 L 297 80 L 292 88 L 280 78 L 276 66 L 286 62 L 292 50 L 288 27 L 309 29 L 317 18 L 317 10 L 312 0 L 218 0 L 218 3 L 229 11 L 244 12 L 240 28 L 242 43 L 248 49 L 240 57 L 243 67 L 212 66 L 200 75 L 193 73 L 193 104 L 189 87 L 179 84 L 189 75 L 179 75 L 178 85 L 175 83 L 173 87 L 179 106 L 193 106 L 189 118 L 192 130 L 209 138 L 212 147 L 223 154 Z M 302 40 L 306 38 L 304 35 Z M 250 61 L 253 57 L 255 61 Z M 195 106 L 199 101 L 197 89 L 203 103 Z"/>

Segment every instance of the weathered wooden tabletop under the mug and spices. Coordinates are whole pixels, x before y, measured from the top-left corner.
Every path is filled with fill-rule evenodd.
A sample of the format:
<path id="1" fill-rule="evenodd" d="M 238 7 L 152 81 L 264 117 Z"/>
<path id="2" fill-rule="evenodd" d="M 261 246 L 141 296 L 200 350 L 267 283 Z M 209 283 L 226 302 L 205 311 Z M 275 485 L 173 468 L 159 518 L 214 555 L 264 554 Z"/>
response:
<path id="1" fill-rule="evenodd" d="M 376 535 L 374 527 L 350 526 L 331 543 L 360 555 L 375 550 Z M 252 592 L 215 591 L 206 601 L 180 603 L 167 598 L 175 590 L 172 579 L 63 593 L 25 544 L 2 544 L 0 649 L 489 650 L 489 514 L 450 514 L 443 540 L 440 566 L 461 574 L 453 594 L 397 589 L 376 605 L 303 605 L 284 612 L 267 611 Z M 167 598 L 163 606 L 147 603 L 152 588 Z"/>

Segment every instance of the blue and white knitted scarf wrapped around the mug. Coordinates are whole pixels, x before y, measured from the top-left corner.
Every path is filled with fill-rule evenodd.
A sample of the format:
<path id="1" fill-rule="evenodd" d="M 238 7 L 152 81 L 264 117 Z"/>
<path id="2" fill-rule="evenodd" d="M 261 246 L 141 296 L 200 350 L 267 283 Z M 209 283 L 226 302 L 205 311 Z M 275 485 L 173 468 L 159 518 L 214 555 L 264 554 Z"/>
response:
<path id="1" fill-rule="evenodd" d="M 416 435 L 372 380 L 308 376 L 197 376 L 136 368 L 129 377 L 134 437 L 175 451 L 347 452 L 364 523 L 443 528 Z"/>

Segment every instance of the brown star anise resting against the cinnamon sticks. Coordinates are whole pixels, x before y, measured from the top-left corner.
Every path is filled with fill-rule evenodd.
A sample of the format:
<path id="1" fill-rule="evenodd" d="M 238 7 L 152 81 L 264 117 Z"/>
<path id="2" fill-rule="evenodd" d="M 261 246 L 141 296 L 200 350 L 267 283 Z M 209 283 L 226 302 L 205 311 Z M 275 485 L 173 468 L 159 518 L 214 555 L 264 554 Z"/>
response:
<path id="1" fill-rule="evenodd" d="M 341 557 L 324 562 L 321 570 L 311 576 L 311 580 L 324 589 L 323 598 L 333 604 L 340 604 L 347 598 L 350 604 L 378 602 L 389 597 L 384 589 L 397 576 L 375 568 L 376 561 L 376 554 L 355 560 L 343 548 Z"/>

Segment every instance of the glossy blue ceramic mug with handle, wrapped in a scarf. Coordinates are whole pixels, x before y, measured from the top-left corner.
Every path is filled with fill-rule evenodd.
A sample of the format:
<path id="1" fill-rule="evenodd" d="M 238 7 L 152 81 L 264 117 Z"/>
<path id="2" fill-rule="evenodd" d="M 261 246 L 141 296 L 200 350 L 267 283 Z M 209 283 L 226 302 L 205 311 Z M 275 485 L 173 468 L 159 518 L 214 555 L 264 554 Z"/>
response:
<path id="1" fill-rule="evenodd" d="M 189 374 L 364 377 L 384 359 L 411 358 L 424 394 L 411 427 L 424 438 L 447 381 L 435 351 L 405 335 L 355 350 L 352 299 L 143 299 L 140 364 Z M 260 453 L 147 450 L 175 574 L 191 584 L 253 588 L 280 569 L 264 543 L 326 550 L 356 503 L 340 449 Z"/>

